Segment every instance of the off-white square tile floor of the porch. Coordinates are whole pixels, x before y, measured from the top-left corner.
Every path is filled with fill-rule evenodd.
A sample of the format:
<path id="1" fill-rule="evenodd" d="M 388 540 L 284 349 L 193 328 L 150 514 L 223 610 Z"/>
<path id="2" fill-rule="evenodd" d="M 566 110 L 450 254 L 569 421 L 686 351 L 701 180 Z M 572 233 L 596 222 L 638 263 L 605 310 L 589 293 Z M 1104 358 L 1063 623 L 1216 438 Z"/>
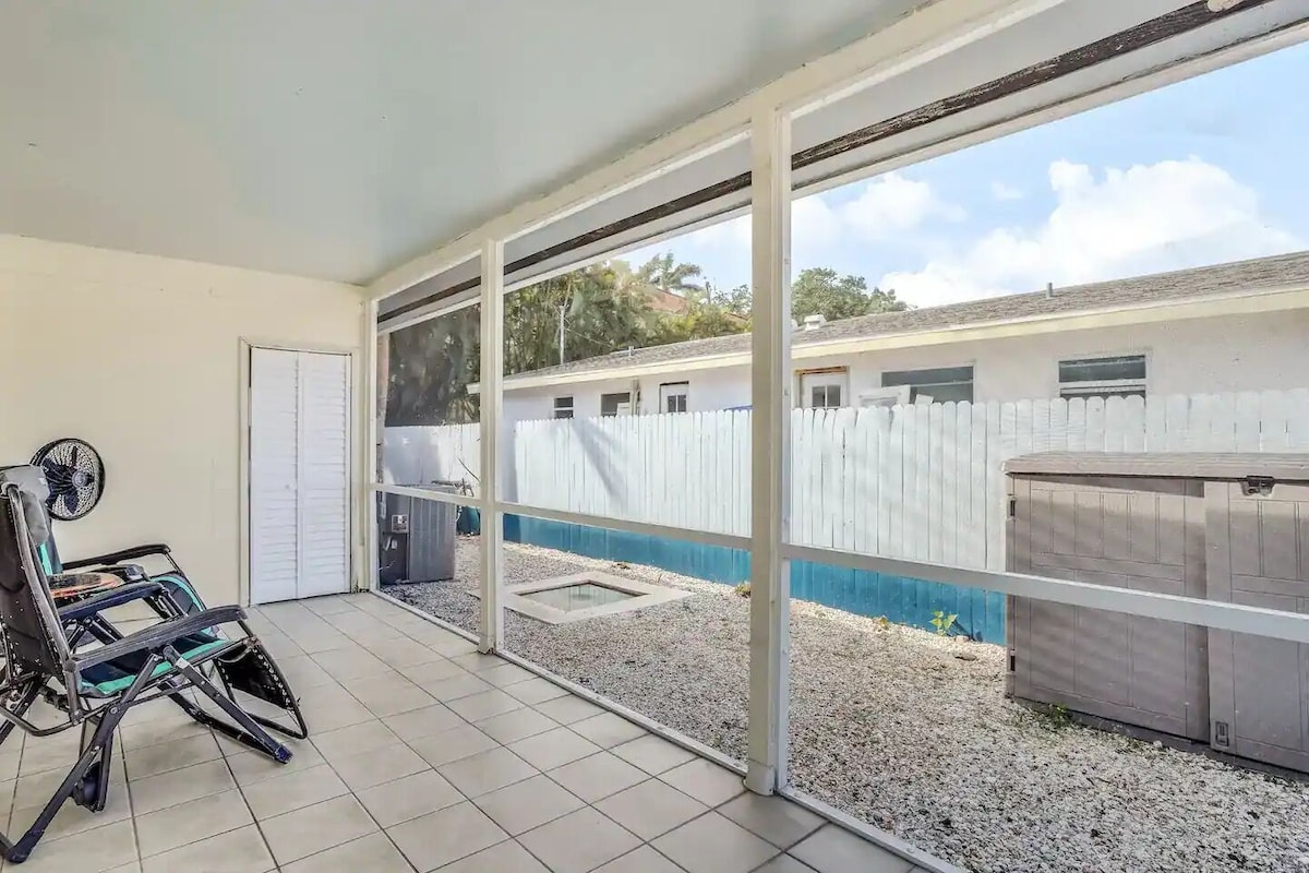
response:
<path id="1" fill-rule="evenodd" d="M 312 737 L 278 766 L 168 702 L 130 713 L 99 814 L 26 873 L 910 873 L 915 868 L 372 594 L 251 610 Z M 77 732 L 0 746 L 14 834 Z"/>

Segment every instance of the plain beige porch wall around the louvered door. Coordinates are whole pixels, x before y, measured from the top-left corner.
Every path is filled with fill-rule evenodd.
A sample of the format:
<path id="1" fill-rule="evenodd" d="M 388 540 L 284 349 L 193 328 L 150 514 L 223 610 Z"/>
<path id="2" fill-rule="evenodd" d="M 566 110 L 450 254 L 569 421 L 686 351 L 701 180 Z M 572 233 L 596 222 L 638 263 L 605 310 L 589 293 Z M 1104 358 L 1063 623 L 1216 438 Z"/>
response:
<path id="1" fill-rule="evenodd" d="M 105 497 L 56 522 L 62 555 L 166 542 L 236 602 L 241 340 L 352 349 L 364 397 L 363 313 L 353 285 L 0 236 L 0 463 L 89 441 Z"/>

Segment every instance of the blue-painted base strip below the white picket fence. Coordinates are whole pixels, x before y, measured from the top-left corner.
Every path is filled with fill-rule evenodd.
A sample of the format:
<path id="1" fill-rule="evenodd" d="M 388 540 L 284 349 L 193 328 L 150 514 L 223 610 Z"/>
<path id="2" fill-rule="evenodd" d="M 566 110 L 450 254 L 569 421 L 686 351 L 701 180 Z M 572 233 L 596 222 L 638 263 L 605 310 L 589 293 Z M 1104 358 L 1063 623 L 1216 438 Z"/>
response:
<path id="1" fill-rule="evenodd" d="M 504 538 L 546 548 L 662 569 L 736 585 L 750 577 L 749 552 L 700 546 L 603 527 L 505 516 Z M 922 579 L 885 576 L 830 564 L 793 561 L 791 596 L 898 624 L 932 628 L 932 613 L 957 614 L 957 630 L 975 640 L 1004 644 L 1004 594 Z"/>

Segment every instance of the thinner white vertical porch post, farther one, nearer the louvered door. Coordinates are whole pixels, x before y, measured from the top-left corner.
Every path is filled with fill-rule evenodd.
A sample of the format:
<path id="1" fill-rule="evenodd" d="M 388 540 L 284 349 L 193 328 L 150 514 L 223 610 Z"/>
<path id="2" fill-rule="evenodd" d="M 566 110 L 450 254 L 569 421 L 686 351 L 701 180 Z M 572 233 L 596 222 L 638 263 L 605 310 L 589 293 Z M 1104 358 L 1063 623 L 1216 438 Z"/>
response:
<path id="1" fill-rule="evenodd" d="M 482 246 L 482 619 L 478 648 L 504 648 L 504 513 L 495 507 L 500 493 L 500 445 L 504 431 L 504 241 L 487 240 Z"/>

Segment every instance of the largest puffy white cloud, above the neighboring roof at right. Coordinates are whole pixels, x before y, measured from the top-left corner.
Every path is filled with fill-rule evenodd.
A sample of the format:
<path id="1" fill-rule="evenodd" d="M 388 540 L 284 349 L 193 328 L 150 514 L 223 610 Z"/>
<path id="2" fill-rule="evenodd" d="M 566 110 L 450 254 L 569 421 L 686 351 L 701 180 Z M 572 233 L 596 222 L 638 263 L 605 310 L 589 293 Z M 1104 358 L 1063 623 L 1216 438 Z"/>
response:
<path id="1" fill-rule="evenodd" d="M 999 228 L 928 263 L 877 283 L 919 306 L 1179 270 L 1301 247 L 1259 212 L 1255 192 L 1198 157 L 1097 178 L 1085 164 L 1055 161 L 1056 205 L 1035 228 Z"/>

